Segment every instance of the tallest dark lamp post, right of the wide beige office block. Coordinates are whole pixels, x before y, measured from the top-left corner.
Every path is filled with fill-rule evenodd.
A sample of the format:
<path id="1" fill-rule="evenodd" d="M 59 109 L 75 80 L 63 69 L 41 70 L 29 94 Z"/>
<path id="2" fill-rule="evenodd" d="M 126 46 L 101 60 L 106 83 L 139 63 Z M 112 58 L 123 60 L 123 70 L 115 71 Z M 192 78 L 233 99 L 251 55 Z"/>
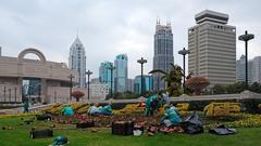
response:
<path id="1" fill-rule="evenodd" d="M 248 90 L 248 41 L 253 39 L 254 36 L 252 34 L 248 34 L 245 31 L 245 35 L 238 37 L 238 40 L 245 41 L 245 49 L 246 49 L 246 90 Z"/>

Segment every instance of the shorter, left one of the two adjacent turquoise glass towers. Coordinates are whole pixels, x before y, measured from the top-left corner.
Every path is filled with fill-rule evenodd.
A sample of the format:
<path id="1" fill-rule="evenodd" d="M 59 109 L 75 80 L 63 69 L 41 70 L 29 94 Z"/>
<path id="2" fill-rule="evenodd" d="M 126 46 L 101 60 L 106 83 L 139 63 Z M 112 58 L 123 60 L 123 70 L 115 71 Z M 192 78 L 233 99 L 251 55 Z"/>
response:
<path id="1" fill-rule="evenodd" d="M 113 85 L 111 87 L 111 84 L 114 84 L 113 81 L 113 77 L 111 76 L 111 70 L 108 69 L 110 66 L 113 66 L 113 64 L 111 62 L 103 62 L 100 64 L 100 68 L 99 68 L 99 81 L 102 83 L 107 83 L 109 85 L 109 90 L 114 90 Z M 112 81 L 112 83 L 111 83 Z"/>

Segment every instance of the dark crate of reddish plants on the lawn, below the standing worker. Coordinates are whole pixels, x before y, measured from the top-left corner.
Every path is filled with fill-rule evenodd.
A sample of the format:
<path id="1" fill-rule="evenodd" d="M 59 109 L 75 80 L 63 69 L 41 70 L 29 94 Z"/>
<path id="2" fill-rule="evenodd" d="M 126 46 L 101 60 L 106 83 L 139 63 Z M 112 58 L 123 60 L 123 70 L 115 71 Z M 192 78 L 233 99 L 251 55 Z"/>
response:
<path id="1" fill-rule="evenodd" d="M 134 122 L 116 121 L 112 122 L 112 134 L 115 135 L 133 135 Z"/>

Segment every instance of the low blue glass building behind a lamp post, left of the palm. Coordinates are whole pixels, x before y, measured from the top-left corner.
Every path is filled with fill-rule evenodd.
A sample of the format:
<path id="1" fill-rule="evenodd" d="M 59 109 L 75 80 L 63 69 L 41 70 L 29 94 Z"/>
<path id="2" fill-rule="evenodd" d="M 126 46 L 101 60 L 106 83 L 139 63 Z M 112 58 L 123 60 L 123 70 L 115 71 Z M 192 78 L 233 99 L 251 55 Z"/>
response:
<path id="1" fill-rule="evenodd" d="M 151 76 L 144 76 L 144 92 L 149 92 L 153 87 L 153 78 Z M 141 76 L 136 76 L 134 79 L 134 92 L 141 93 Z"/>

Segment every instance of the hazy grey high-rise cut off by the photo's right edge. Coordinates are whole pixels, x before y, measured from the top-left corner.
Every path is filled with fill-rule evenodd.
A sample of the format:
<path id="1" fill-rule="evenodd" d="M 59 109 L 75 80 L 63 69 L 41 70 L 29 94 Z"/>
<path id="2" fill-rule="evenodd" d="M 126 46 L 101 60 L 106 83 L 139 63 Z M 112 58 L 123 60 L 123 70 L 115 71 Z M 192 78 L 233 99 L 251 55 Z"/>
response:
<path id="1" fill-rule="evenodd" d="M 252 59 L 253 63 L 253 82 L 261 83 L 261 56 L 257 56 Z"/>

